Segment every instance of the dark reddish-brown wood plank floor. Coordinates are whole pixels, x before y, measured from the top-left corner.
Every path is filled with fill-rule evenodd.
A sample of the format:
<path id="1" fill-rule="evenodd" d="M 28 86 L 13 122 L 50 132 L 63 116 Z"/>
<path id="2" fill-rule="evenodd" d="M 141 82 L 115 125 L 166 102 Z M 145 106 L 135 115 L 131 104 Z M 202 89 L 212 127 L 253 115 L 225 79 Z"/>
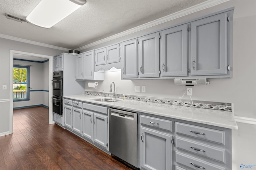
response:
<path id="1" fill-rule="evenodd" d="M 48 109 L 13 111 L 13 134 L 0 137 L 0 170 L 127 170 L 124 164 L 58 125 Z"/>

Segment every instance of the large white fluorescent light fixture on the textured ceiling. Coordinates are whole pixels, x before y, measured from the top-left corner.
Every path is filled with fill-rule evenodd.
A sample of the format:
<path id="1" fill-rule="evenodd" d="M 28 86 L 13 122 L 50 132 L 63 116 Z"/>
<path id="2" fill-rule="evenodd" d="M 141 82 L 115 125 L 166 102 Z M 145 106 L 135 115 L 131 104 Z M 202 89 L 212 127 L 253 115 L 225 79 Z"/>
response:
<path id="1" fill-rule="evenodd" d="M 86 0 L 41 0 L 26 20 L 50 28 L 86 3 Z"/>

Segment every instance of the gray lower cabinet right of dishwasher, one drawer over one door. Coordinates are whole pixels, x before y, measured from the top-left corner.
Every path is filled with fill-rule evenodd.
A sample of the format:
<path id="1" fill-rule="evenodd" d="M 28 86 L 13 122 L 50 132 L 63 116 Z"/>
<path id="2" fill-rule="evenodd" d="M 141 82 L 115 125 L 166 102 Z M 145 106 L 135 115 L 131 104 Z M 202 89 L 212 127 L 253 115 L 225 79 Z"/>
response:
<path id="1" fill-rule="evenodd" d="M 172 169 L 171 129 L 171 121 L 140 115 L 140 168 Z"/>

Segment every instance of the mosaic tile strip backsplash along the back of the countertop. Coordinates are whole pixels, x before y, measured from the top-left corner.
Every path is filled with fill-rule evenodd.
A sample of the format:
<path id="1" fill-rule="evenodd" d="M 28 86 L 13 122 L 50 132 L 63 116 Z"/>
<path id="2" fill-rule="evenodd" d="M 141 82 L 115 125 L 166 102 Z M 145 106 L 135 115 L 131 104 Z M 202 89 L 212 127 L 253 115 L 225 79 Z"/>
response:
<path id="1" fill-rule="evenodd" d="M 93 95 L 93 96 L 104 96 L 104 97 L 113 97 L 113 94 L 110 93 L 103 93 L 103 92 L 88 92 L 85 91 L 84 94 Z M 123 98 L 122 94 L 117 94 L 116 98 Z M 146 97 L 146 96 L 132 96 L 132 95 L 125 95 L 126 100 L 137 100 L 143 102 L 153 102 L 153 103 L 160 103 L 160 104 L 170 104 L 176 106 L 191 106 L 191 100 L 173 100 L 173 99 L 166 99 L 166 98 L 153 98 L 153 97 Z M 231 103 L 221 103 L 221 102 L 207 102 L 207 101 L 199 101 L 193 100 L 192 107 L 197 108 L 204 108 L 204 109 L 214 109 L 214 110 L 224 110 L 224 111 L 232 111 Z"/>

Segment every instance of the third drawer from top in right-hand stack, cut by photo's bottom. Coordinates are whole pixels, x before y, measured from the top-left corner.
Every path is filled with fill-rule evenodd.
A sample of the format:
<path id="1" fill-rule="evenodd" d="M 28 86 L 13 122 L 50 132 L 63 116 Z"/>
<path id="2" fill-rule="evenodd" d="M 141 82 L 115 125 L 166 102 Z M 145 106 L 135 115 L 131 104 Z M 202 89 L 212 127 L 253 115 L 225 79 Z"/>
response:
<path id="1" fill-rule="evenodd" d="M 188 166 L 191 169 L 206 169 L 206 170 L 225 170 L 225 167 L 206 162 L 198 159 L 195 156 L 190 156 L 181 152 L 175 152 L 176 162 Z"/>

